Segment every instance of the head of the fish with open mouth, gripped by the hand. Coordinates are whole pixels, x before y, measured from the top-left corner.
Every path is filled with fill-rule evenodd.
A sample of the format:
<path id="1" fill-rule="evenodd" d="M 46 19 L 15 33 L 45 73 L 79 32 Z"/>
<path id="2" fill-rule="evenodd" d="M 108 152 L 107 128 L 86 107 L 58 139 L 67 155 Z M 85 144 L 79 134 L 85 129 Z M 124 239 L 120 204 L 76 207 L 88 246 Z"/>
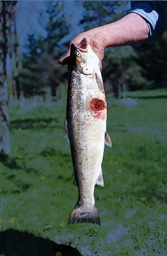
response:
<path id="1" fill-rule="evenodd" d="M 70 52 L 71 66 L 83 73 L 84 75 L 91 75 L 95 66 L 99 64 L 99 58 L 93 52 L 86 38 L 82 39 L 78 46 L 72 43 Z"/>

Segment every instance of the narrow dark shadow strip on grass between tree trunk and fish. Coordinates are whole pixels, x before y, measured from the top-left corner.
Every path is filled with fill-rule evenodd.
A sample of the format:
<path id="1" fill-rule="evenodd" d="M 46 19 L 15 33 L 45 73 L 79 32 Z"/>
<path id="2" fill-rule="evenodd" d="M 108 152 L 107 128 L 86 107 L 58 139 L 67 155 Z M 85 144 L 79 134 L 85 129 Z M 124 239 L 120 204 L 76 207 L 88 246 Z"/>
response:
<path id="1" fill-rule="evenodd" d="M 12 129 L 44 129 L 47 127 L 51 128 L 62 128 L 62 124 L 59 124 L 57 118 L 27 118 L 27 119 L 17 119 L 10 121 L 10 130 Z"/>

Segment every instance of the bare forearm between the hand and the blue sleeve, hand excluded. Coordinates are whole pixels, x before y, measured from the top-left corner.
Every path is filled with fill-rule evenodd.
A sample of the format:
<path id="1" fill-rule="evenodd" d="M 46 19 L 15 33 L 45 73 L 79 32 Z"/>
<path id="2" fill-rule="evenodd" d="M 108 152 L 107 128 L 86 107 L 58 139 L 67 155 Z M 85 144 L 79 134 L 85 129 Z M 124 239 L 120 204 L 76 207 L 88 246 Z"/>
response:
<path id="1" fill-rule="evenodd" d="M 149 39 L 147 22 L 136 13 L 129 13 L 122 19 L 90 30 L 93 38 L 99 38 L 104 48 L 109 46 L 135 45 Z"/>

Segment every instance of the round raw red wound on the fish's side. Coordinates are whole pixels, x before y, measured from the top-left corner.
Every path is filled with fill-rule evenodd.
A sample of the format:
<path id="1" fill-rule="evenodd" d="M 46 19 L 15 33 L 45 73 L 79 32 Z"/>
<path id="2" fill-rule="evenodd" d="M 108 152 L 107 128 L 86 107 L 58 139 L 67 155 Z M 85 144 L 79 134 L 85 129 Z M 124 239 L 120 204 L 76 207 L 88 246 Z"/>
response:
<path id="1" fill-rule="evenodd" d="M 106 102 L 102 99 L 92 99 L 89 103 L 91 111 L 93 111 L 93 115 L 97 118 L 105 118 L 105 115 L 102 115 L 101 111 L 104 111 L 106 109 Z"/>

